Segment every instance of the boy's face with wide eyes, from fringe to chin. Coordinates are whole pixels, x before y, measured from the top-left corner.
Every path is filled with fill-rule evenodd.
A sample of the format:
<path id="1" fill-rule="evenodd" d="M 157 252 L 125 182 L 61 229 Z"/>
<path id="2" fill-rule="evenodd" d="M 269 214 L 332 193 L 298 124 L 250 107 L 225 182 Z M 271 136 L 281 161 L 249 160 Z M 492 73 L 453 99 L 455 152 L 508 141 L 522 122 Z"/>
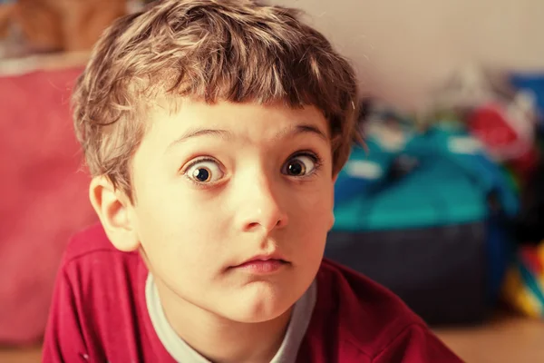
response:
<path id="1" fill-rule="evenodd" d="M 158 284 L 240 322 L 286 312 L 314 280 L 334 222 L 324 116 L 184 100 L 149 123 L 129 215 Z"/>

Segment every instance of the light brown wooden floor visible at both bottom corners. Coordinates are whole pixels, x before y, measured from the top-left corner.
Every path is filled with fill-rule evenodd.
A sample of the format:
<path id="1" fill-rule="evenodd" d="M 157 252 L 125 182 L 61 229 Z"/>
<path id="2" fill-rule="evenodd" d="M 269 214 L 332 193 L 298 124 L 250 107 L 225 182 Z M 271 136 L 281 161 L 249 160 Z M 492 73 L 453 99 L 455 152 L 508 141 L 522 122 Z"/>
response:
<path id="1" fill-rule="evenodd" d="M 501 313 L 476 328 L 440 329 L 436 333 L 469 363 L 544 362 L 544 320 Z M 38 363 L 40 348 L 0 348 L 2 363 Z"/>

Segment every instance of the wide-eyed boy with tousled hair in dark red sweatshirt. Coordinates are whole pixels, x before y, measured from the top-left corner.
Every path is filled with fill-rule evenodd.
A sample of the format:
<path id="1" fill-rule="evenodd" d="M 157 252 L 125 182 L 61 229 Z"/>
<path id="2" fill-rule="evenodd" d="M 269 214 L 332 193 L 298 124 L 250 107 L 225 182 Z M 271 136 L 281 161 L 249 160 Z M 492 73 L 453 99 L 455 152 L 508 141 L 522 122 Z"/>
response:
<path id="1" fill-rule="evenodd" d="M 458 362 L 392 293 L 323 260 L 354 71 L 292 9 L 166 0 L 74 90 L 101 226 L 66 252 L 46 362 Z"/>

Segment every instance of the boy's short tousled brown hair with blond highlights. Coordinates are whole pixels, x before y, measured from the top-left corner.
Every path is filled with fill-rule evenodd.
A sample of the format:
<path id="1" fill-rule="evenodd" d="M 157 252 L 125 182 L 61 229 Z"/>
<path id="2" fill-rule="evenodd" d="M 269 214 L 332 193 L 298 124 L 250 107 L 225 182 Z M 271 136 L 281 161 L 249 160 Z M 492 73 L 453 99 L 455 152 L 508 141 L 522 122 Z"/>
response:
<path id="1" fill-rule="evenodd" d="M 253 0 L 164 0 L 118 19 L 73 92 L 93 176 L 131 196 L 131 156 L 158 97 L 314 105 L 332 135 L 334 172 L 358 140 L 353 68 L 295 9 Z"/>

